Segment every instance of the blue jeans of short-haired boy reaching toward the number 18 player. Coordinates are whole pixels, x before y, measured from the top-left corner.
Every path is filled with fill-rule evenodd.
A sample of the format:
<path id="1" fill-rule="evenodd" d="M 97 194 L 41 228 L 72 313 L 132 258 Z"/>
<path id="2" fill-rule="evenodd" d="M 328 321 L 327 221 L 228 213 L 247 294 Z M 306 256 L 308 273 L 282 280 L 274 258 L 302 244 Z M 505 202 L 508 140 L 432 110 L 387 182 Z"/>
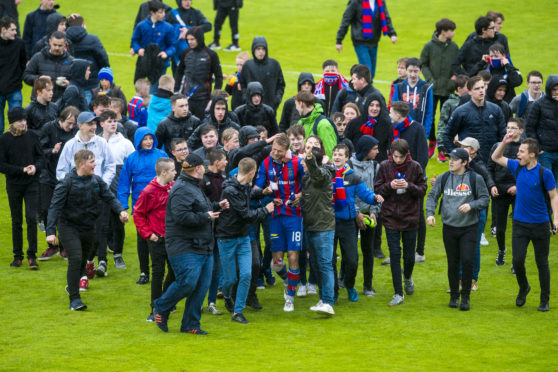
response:
<path id="1" fill-rule="evenodd" d="M 250 236 L 234 239 L 217 239 L 223 270 L 223 296 L 231 297 L 234 285 L 238 282 L 234 312 L 241 314 L 246 307 L 246 298 L 252 278 L 252 247 Z M 238 265 L 238 276 L 236 267 Z"/>

